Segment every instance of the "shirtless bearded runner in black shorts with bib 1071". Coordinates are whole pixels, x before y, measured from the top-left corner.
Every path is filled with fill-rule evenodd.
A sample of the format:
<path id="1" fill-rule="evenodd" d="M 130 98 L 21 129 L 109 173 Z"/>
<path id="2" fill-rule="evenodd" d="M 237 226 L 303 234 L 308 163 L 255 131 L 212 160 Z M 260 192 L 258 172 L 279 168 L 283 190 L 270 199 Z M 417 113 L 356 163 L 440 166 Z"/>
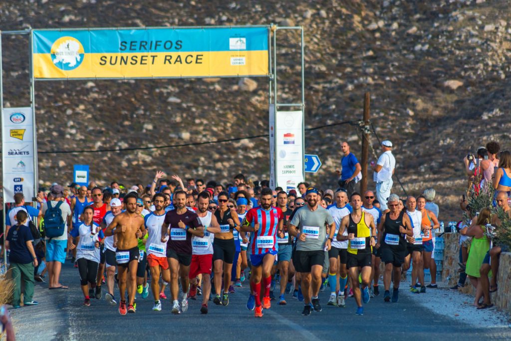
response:
<path id="1" fill-rule="evenodd" d="M 115 260 L 118 266 L 119 291 L 121 302 L 119 304 L 119 313 L 126 315 L 126 277 L 129 268 L 128 283 L 128 311 L 135 312 L 133 303 L 135 301 L 136 290 L 136 270 L 138 266 L 137 234 L 143 236 L 146 234 L 144 218 L 136 214 L 136 195 L 129 193 L 124 197 L 126 211 L 115 216 L 105 231 L 105 236 L 117 235 L 117 250 L 115 251 Z"/>

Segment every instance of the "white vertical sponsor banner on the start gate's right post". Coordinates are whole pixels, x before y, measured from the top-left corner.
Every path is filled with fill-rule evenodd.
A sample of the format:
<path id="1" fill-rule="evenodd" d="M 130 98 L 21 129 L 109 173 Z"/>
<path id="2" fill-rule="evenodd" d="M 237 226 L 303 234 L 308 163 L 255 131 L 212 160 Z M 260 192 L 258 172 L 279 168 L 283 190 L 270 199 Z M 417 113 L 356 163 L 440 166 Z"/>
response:
<path id="1" fill-rule="evenodd" d="M 277 111 L 275 116 L 276 186 L 289 192 L 304 181 L 303 112 Z"/>

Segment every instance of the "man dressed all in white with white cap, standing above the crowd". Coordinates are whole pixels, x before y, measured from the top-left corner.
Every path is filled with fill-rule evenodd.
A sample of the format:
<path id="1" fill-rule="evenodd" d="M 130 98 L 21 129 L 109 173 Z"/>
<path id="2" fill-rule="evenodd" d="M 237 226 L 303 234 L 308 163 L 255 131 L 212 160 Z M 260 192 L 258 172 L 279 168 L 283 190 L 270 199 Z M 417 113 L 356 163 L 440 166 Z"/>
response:
<path id="1" fill-rule="evenodd" d="M 376 197 L 380 202 L 380 210 L 387 210 L 387 198 L 392 190 L 392 175 L 396 168 L 396 158 L 392 155 L 392 142 L 382 142 L 383 153 L 378 158 L 376 165 L 373 165 L 373 179 L 376 183 Z"/>

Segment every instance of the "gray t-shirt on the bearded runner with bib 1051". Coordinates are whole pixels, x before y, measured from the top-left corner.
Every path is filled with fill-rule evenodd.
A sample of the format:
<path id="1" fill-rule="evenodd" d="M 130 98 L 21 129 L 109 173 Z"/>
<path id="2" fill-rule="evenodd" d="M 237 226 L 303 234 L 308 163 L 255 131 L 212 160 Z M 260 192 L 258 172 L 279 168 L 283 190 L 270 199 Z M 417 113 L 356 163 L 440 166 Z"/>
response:
<path id="1" fill-rule="evenodd" d="M 316 211 L 311 211 L 305 206 L 296 211 L 291 225 L 297 226 L 298 231 L 306 235 L 305 241 L 296 241 L 296 250 L 322 251 L 327 239 L 327 224 L 330 225 L 333 222 L 334 218 L 330 212 L 321 206 L 318 206 Z"/>

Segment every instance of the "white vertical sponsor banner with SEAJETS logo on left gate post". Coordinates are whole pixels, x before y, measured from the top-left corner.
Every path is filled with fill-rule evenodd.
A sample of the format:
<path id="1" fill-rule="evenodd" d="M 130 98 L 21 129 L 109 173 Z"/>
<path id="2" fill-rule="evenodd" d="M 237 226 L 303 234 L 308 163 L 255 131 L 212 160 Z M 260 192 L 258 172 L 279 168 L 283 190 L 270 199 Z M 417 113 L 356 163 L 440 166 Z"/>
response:
<path id="1" fill-rule="evenodd" d="M 23 193 L 34 197 L 34 143 L 31 108 L 4 108 L 2 127 L 2 171 L 4 200 L 14 202 Z"/>

